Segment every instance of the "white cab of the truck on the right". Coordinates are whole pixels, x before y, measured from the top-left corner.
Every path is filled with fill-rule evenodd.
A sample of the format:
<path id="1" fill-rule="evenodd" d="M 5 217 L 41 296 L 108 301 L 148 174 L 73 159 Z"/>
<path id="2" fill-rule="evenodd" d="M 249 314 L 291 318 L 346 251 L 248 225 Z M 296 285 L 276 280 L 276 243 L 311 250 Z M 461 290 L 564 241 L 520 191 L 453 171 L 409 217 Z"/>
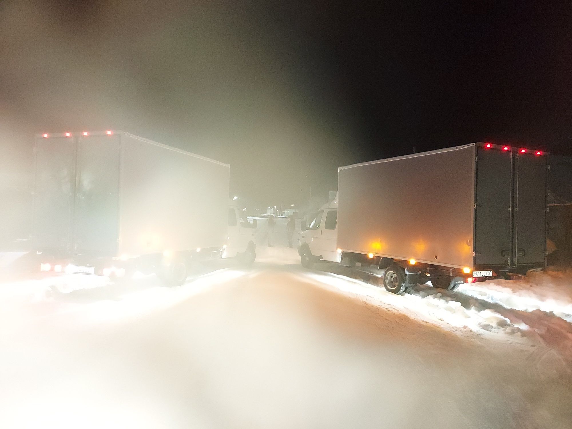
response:
<path id="1" fill-rule="evenodd" d="M 337 248 L 337 196 L 324 204 L 308 226 L 302 222 L 298 254 L 305 268 L 313 263 L 329 261 L 339 263 L 341 252 Z"/>

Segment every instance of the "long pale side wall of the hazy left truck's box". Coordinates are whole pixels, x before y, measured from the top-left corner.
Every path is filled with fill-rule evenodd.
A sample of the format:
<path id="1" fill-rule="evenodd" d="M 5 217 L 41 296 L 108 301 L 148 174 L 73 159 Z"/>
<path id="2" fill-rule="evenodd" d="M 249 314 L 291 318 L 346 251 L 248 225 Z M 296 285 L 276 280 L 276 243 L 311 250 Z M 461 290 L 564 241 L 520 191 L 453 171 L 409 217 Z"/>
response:
<path id="1" fill-rule="evenodd" d="M 221 247 L 229 166 L 131 134 L 122 138 L 120 255 Z"/>

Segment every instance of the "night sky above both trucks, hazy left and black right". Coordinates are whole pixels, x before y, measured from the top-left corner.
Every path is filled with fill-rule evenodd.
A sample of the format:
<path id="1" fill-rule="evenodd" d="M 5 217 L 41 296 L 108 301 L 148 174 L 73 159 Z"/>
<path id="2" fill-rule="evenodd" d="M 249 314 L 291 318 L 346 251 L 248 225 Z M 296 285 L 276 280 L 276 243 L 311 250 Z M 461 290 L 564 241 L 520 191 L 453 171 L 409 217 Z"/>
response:
<path id="1" fill-rule="evenodd" d="M 0 59 L 7 181 L 64 130 L 228 162 L 261 204 L 414 146 L 572 154 L 572 2 L 5 0 Z"/>

